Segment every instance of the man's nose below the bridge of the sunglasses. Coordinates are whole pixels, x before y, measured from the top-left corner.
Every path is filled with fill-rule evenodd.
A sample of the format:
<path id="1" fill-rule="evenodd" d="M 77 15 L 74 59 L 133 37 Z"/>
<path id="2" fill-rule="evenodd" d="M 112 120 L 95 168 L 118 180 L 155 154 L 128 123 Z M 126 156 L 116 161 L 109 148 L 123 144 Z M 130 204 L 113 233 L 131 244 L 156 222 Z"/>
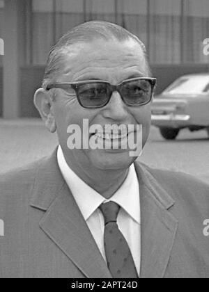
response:
<path id="1" fill-rule="evenodd" d="M 119 92 L 114 91 L 107 106 L 103 109 L 103 115 L 106 118 L 116 120 L 118 122 L 125 121 L 128 111 Z"/>

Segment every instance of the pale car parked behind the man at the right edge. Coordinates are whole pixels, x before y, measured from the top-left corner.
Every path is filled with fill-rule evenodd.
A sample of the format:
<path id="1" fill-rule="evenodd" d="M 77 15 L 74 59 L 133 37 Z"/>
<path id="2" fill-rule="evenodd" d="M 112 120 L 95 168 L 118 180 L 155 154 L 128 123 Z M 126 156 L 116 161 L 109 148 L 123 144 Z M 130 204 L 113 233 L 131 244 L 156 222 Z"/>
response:
<path id="1" fill-rule="evenodd" d="M 176 79 L 153 99 L 152 124 L 166 139 L 175 139 L 181 129 L 206 129 L 209 133 L 209 73 Z"/>

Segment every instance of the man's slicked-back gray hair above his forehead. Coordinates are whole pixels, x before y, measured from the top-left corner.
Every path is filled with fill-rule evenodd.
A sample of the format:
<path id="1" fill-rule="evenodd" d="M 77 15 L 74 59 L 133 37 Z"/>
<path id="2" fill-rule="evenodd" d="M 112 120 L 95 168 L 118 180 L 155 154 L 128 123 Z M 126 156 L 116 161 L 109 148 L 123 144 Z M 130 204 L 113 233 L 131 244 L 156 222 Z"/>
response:
<path id="1" fill-rule="evenodd" d="M 146 60 L 146 70 L 150 75 L 150 67 L 148 65 L 148 60 L 146 56 L 146 47 L 136 35 L 130 33 L 123 27 L 117 24 L 112 24 L 110 22 L 93 21 L 85 22 L 79 26 L 75 26 L 73 29 L 65 33 L 62 38 L 52 47 L 49 51 L 49 56 L 47 58 L 47 65 L 45 68 L 45 75 L 42 81 L 42 88 L 47 88 L 50 82 L 55 81 L 54 79 L 58 74 L 61 74 L 62 68 L 60 66 L 61 62 L 64 61 L 66 49 L 68 49 L 72 44 L 78 42 L 91 42 L 96 38 L 103 40 L 119 40 L 121 42 L 125 40 L 135 40 L 139 43 Z"/>

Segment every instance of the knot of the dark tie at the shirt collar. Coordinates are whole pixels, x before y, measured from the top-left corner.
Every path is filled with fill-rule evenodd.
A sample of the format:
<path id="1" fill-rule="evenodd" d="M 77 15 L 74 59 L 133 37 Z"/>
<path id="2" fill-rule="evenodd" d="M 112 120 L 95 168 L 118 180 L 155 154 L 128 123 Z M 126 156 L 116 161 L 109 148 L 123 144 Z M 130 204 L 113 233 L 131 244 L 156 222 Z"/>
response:
<path id="1" fill-rule="evenodd" d="M 104 225 L 109 222 L 116 222 L 120 206 L 115 202 L 107 202 L 100 205 L 100 210 L 104 216 Z"/>

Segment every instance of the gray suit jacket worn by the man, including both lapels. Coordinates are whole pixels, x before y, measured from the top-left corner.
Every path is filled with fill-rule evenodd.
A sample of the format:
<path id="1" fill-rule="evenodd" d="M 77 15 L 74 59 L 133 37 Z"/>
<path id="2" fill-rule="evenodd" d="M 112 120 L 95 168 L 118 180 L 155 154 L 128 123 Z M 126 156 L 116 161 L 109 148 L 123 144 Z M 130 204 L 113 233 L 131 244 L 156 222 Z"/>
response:
<path id="1" fill-rule="evenodd" d="M 209 277 L 209 186 L 135 163 L 141 277 Z M 85 194 L 84 194 L 85 195 Z M 65 184 L 56 152 L 0 177 L 0 277 L 111 277 Z"/>

